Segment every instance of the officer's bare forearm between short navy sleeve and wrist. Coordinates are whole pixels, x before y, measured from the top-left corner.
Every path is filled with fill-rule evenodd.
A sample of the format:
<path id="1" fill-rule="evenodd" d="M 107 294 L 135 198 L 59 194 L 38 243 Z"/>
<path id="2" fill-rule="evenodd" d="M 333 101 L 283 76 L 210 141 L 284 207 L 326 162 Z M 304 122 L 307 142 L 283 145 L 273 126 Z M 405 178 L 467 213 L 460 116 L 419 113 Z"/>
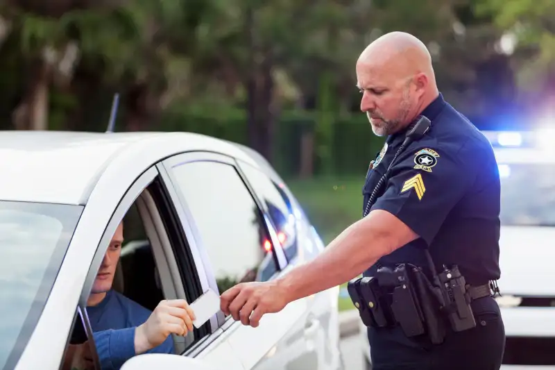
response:
<path id="1" fill-rule="evenodd" d="M 336 237 L 313 261 L 280 279 L 288 301 L 316 294 L 359 276 L 383 255 L 416 239 L 400 220 L 385 211 L 373 211 Z"/>

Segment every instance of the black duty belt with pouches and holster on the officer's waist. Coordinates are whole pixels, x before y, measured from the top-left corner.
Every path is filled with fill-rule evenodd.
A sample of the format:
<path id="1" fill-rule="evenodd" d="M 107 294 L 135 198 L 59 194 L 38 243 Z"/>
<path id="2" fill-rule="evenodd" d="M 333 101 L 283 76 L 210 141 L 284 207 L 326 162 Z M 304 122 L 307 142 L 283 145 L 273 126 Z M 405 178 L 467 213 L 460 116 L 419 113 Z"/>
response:
<path id="1" fill-rule="evenodd" d="M 476 326 L 470 302 L 493 296 L 495 284 L 466 284 L 456 265 L 429 280 L 422 268 L 402 263 L 355 278 L 347 289 L 365 326 L 400 326 L 407 337 L 427 334 L 441 344 L 445 325 L 455 332 Z"/>

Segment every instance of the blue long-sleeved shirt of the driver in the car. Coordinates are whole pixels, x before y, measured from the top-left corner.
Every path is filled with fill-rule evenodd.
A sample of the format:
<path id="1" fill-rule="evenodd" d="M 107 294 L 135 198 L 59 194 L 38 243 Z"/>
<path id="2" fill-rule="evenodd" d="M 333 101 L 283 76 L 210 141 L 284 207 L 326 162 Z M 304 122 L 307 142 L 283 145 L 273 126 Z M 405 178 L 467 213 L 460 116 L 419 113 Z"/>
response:
<path id="1" fill-rule="evenodd" d="M 135 356 L 135 328 L 151 311 L 111 289 L 98 305 L 87 307 L 103 370 L 117 370 Z M 146 353 L 174 353 L 171 336 Z"/>

